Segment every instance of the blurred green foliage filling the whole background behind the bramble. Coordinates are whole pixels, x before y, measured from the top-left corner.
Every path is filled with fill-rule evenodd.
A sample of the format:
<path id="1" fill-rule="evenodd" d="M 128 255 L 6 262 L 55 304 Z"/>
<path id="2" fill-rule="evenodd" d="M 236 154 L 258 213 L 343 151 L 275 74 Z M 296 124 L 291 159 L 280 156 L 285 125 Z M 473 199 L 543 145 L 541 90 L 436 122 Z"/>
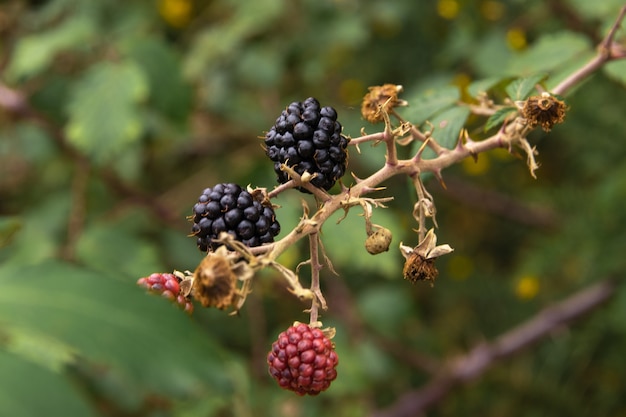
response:
<path id="1" fill-rule="evenodd" d="M 480 139 L 486 120 L 458 100 L 474 103 L 481 91 L 520 99 L 537 81 L 556 85 L 593 56 L 622 4 L 0 3 L 0 81 L 32 106 L 0 90 L 0 415 L 366 415 L 428 381 L 419 358 L 461 352 L 620 276 L 624 61 L 566 97 L 563 125 L 531 135 L 538 180 L 523 161 L 491 151 L 444 172 L 456 187 L 427 184 L 439 240 L 455 248 L 438 261 L 434 288 L 402 281 L 396 250 L 368 255 L 356 213 L 325 225 L 340 277 L 323 271 L 323 320 L 337 328 L 340 365 L 320 397 L 295 398 L 267 376 L 275 335 L 307 319 L 277 277 L 261 274 L 240 317 L 197 308 L 189 318 L 135 285 L 194 269 L 202 255 L 185 216 L 205 187 L 275 184 L 258 137 L 290 101 L 314 95 L 357 136 L 375 129 L 359 114 L 367 86 L 401 84 L 403 116 L 430 121 L 443 145 L 463 125 Z M 384 162 L 383 147 L 361 150 L 349 167 L 359 177 Z M 393 246 L 416 244 L 409 186 L 385 185 L 395 200 L 374 223 L 393 231 Z M 462 192 L 473 189 L 496 204 Z M 300 198 L 277 199 L 283 235 Z M 504 201 L 516 210 L 494 209 Z M 306 250 L 279 260 L 295 267 Z M 431 415 L 626 415 L 624 329 L 622 286 L 606 308 L 495 366 Z"/>

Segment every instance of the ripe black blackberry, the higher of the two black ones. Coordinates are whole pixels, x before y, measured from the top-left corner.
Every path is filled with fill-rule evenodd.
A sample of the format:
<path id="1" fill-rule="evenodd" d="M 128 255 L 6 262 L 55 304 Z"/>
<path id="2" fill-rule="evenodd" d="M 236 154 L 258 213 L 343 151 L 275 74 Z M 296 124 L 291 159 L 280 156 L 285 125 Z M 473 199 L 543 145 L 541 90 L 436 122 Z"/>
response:
<path id="1" fill-rule="evenodd" d="M 305 171 L 315 174 L 311 184 L 324 190 L 346 172 L 347 146 L 335 109 L 321 107 L 313 97 L 287 106 L 265 135 L 265 153 L 274 161 L 279 183 L 289 181 L 289 175 L 280 169 L 287 164 L 300 175 Z"/>

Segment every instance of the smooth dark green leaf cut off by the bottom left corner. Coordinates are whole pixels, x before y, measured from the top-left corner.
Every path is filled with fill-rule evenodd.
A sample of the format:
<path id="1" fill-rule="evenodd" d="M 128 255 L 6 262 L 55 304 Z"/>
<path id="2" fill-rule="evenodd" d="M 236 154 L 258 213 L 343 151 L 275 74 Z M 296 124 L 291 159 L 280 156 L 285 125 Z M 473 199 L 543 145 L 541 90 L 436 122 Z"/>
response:
<path id="1" fill-rule="evenodd" d="M 0 349 L 0 415 L 96 416 L 63 375 Z"/>

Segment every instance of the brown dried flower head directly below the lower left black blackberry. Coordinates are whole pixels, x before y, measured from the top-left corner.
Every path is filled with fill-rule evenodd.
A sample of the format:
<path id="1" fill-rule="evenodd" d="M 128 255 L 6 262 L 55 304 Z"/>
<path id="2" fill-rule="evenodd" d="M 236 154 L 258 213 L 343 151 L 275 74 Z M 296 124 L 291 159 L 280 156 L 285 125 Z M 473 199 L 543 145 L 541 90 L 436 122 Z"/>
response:
<path id="1" fill-rule="evenodd" d="M 237 276 L 230 261 L 218 253 L 204 257 L 193 273 L 193 297 L 204 307 L 224 310 L 238 298 Z"/>

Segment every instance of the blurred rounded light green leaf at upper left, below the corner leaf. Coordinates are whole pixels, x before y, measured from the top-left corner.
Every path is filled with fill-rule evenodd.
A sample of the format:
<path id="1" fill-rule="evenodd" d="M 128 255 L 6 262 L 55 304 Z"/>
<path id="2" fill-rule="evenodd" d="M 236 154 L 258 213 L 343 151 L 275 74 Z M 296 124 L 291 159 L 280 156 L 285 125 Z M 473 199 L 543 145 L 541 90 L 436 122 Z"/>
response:
<path id="1" fill-rule="evenodd" d="M 133 63 L 96 64 L 78 81 L 68 106 L 68 141 L 104 163 L 139 140 L 143 131 L 138 104 L 148 84 Z"/>

